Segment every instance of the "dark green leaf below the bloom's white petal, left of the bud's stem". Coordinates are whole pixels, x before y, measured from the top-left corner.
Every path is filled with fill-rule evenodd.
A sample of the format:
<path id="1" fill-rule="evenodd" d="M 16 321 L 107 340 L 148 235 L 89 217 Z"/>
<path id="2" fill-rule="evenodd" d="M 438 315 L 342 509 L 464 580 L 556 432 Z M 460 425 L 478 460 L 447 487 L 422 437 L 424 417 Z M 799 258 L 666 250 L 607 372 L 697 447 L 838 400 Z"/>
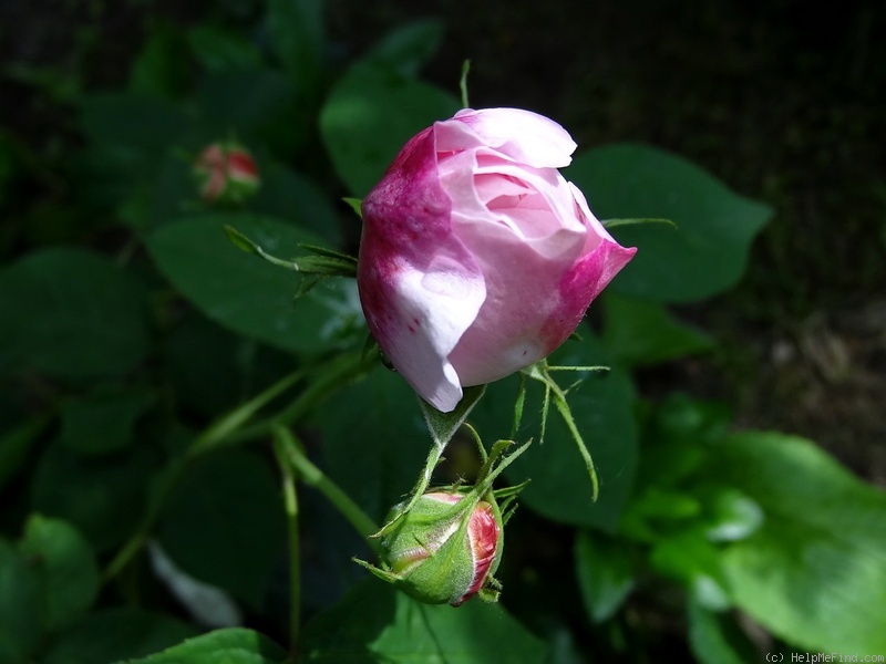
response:
<path id="1" fill-rule="evenodd" d="M 315 424 L 329 475 L 377 522 L 415 484 L 431 448 L 415 392 L 381 367 L 323 404 Z"/>

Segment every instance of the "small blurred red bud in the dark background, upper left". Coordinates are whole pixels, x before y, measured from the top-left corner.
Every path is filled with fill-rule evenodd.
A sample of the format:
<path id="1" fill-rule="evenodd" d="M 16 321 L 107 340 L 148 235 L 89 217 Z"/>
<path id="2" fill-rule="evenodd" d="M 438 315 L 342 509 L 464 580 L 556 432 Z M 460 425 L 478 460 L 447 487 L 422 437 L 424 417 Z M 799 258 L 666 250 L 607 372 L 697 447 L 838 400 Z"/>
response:
<path id="1" fill-rule="evenodd" d="M 194 164 L 194 177 L 204 200 L 225 205 L 244 203 L 260 184 L 255 158 L 234 142 L 206 147 Z"/>

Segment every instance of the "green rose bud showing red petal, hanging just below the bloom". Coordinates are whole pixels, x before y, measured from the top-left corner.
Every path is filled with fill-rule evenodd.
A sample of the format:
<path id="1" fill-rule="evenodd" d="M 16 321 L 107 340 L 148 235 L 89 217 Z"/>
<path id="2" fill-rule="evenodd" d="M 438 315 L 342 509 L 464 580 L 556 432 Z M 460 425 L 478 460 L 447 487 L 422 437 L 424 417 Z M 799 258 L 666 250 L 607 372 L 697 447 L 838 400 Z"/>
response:
<path id="1" fill-rule="evenodd" d="M 381 540 L 384 569 L 377 575 L 427 604 L 459 606 L 476 593 L 497 598 L 492 574 L 502 554 L 502 520 L 497 506 L 476 501 L 473 509 L 453 510 L 461 494 L 424 494 L 405 515 L 405 504 L 391 511 L 388 521 L 400 520 Z"/>

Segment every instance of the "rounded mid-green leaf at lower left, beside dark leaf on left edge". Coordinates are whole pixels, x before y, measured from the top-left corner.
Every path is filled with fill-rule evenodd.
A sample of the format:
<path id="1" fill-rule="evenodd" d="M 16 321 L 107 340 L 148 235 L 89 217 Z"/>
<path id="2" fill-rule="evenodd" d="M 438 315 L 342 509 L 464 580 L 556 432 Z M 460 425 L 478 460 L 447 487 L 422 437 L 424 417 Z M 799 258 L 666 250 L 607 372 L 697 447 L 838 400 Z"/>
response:
<path id="1" fill-rule="evenodd" d="M 99 594 L 99 566 L 89 542 L 59 519 L 28 519 L 19 551 L 43 587 L 43 624 L 58 630 L 80 618 Z"/>

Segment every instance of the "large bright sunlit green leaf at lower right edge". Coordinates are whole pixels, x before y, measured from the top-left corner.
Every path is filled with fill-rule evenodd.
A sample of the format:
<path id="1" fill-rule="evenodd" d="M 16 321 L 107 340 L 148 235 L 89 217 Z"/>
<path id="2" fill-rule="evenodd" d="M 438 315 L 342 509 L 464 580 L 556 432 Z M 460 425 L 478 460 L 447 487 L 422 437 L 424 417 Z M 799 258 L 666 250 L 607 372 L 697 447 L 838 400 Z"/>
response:
<path id="1" fill-rule="evenodd" d="M 765 515 L 722 553 L 735 603 L 808 651 L 886 653 L 886 494 L 776 433 L 731 436 L 711 469 Z"/>

